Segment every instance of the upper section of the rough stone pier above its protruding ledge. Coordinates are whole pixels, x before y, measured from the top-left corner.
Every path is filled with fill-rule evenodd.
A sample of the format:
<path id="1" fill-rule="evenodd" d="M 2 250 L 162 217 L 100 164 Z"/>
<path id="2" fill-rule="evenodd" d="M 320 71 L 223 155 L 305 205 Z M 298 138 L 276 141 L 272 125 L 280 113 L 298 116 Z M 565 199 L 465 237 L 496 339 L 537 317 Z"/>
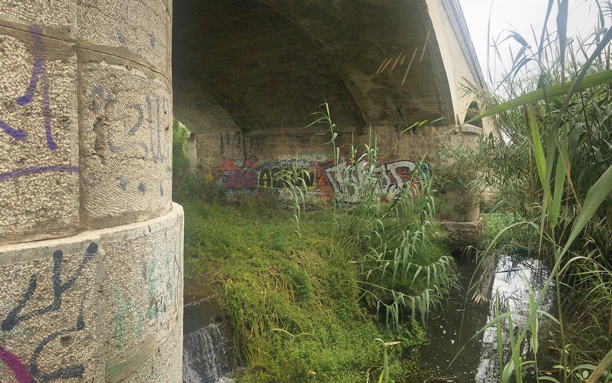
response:
<path id="1" fill-rule="evenodd" d="M 171 2 L 0 10 L 0 243 L 166 213 Z"/>

